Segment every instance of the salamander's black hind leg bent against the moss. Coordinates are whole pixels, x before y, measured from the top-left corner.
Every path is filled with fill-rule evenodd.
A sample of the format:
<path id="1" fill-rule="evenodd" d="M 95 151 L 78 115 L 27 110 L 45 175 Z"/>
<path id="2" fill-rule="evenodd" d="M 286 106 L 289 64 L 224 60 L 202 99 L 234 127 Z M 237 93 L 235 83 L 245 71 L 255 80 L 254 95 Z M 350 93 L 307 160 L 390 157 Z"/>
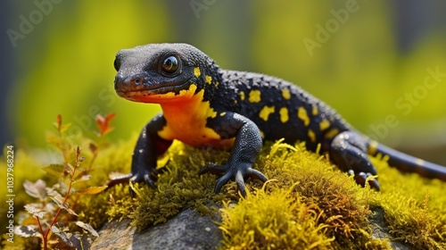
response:
<path id="1" fill-rule="evenodd" d="M 376 175 L 376 169 L 368 159 L 367 140 L 359 134 L 346 131 L 335 137 L 330 149 L 330 159 L 342 171 L 347 171 L 355 176 L 356 182 L 365 186 L 366 179 L 371 175 Z M 370 187 L 379 191 L 379 183 L 376 179 L 368 181 Z"/>

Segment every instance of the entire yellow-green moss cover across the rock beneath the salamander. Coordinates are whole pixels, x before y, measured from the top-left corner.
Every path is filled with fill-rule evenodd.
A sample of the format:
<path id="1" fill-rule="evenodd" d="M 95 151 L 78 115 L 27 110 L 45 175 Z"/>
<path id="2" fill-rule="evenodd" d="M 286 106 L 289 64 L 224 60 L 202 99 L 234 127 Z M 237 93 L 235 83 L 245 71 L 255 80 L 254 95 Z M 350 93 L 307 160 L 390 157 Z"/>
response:
<path id="1" fill-rule="evenodd" d="M 135 142 L 136 136 L 103 147 L 91 171 L 92 178 L 76 183 L 75 189 L 101 186 L 113 171 L 128 172 Z M 85 155 L 87 164 L 91 154 Z M 79 221 L 96 229 L 104 221 L 123 218 L 131 218 L 138 229 L 146 229 L 187 207 L 202 214 L 219 213 L 223 248 L 390 249 L 388 240 L 372 237 L 368 218 L 372 214 L 369 207 L 374 206 L 384 211 L 386 230 L 395 239 L 415 248 L 446 247 L 444 182 L 401 174 L 390 168 L 385 158 L 376 157 L 372 161 L 379 172 L 382 191 L 375 192 L 359 187 L 325 156 L 306 151 L 303 144 L 288 146 L 278 142 L 263 146 L 254 165 L 268 176 L 267 184 L 247 181 L 249 195 L 240 198 L 234 181 L 230 181 L 215 195 L 217 177 L 197 173 L 207 162 L 223 162 L 228 155 L 175 142 L 159 161 L 160 167 L 167 168 L 156 190 L 136 184 L 132 187 L 136 197 L 132 198 L 128 185 L 119 185 L 95 196 L 74 194 L 69 203 L 78 212 Z M 17 161 L 17 169 L 26 169 L 25 163 L 32 162 L 29 158 L 32 157 L 23 160 L 23 165 Z M 24 179 L 22 176 L 16 181 L 22 183 Z"/>

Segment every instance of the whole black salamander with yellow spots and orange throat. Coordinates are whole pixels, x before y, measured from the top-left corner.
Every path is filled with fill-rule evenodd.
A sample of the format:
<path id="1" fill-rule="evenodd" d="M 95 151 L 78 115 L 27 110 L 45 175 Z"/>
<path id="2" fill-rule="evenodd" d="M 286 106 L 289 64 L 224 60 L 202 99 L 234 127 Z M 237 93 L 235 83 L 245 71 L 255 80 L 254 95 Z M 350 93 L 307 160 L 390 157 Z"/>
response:
<path id="1" fill-rule="evenodd" d="M 109 185 L 144 181 L 154 187 L 157 158 L 178 139 L 190 146 L 232 148 L 227 162 L 208 164 L 202 173 L 219 174 L 215 192 L 235 179 L 245 196 L 247 178 L 266 181 L 252 164 L 263 140 L 304 141 L 311 151 L 328 154 L 342 171 L 364 186 L 380 189 L 368 154 L 387 154 L 401 171 L 446 180 L 446 168 L 378 144 L 363 136 L 332 108 L 283 79 L 222 70 L 206 54 L 186 44 L 136 46 L 118 52 L 114 87 L 118 96 L 138 103 L 161 104 L 162 113 L 141 132 L 131 173 Z"/>

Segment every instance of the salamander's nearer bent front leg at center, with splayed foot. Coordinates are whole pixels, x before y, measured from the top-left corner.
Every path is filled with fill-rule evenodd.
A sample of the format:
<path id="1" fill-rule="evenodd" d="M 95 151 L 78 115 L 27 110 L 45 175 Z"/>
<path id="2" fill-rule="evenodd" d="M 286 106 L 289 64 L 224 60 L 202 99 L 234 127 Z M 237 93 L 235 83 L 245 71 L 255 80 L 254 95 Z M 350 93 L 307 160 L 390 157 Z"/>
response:
<path id="1" fill-rule="evenodd" d="M 252 164 L 259 156 L 262 146 L 260 130 L 254 122 L 240 114 L 227 112 L 222 117 L 208 121 L 207 126 L 214 129 L 222 138 L 235 137 L 234 146 L 226 163 L 221 166 L 208 164 L 200 171 L 200 174 L 207 172 L 223 174 L 215 185 L 216 193 L 229 179 L 235 179 L 242 196 L 246 196 L 245 178 L 260 179 L 263 182 L 267 180 L 260 171 L 252 169 Z"/>

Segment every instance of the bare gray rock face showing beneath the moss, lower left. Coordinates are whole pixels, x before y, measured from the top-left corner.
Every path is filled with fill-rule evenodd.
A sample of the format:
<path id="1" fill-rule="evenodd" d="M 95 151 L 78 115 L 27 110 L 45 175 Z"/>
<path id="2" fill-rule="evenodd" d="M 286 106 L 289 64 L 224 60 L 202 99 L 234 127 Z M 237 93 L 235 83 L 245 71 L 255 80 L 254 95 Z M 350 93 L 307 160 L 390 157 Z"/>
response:
<path id="1" fill-rule="evenodd" d="M 222 234 L 213 220 L 217 218 L 186 209 L 140 232 L 129 225 L 130 220 L 111 221 L 100 230 L 91 249 L 216 249 Z"/>

